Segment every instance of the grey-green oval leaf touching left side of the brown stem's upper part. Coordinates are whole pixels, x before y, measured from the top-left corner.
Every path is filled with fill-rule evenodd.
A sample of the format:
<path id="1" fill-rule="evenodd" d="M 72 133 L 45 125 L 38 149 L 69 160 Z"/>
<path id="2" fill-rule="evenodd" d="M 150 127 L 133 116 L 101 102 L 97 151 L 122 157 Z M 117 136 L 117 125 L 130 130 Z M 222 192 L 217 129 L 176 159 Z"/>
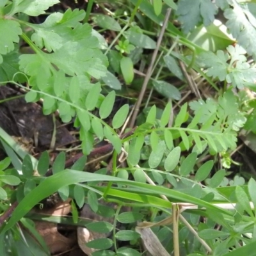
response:
<path id="1" fill-rule="evenodd" d="M 156 42 L 147 35 L 143 35 L 143 32 L 138 27 L 132 27 L 124 32 L 125 38 L 135 46 L 144 49 L 156 49 Z"/>

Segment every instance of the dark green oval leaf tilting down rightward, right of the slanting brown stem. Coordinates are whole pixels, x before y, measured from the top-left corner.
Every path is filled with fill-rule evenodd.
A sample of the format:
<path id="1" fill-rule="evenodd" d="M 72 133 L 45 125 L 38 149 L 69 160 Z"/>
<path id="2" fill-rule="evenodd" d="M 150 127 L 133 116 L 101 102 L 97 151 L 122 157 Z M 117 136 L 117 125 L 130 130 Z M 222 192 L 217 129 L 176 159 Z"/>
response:
<path id="1" fill-rule="evenodd" d="M 164 97 L 168 99 L 173 99 L 173 100 L 181 99 L 180 91 L 172 84 L 164 81 L 154 80 L 153 85 L 156 91 L 159 92 Z"/>

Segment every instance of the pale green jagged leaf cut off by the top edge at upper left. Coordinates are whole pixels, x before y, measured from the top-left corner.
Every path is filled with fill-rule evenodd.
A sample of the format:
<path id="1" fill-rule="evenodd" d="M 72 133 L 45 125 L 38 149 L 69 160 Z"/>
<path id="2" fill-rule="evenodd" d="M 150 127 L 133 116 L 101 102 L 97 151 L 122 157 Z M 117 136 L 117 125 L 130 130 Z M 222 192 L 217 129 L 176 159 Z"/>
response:
<path id="1" fill-rule="evenodd" d="M 29 16 L 38 16 L 44 14 L 45 10 L 54 4 L 60 3 L 59 0 L 23 0 L 15 1 L 10 15 L 18 12 L 24 12 Z"/>

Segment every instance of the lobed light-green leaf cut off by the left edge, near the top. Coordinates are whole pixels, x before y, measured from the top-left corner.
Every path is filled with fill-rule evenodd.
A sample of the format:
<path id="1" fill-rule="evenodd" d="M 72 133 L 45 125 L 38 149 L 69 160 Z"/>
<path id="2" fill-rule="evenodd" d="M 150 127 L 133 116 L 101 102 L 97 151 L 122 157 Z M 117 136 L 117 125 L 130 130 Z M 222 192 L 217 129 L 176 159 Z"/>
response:
<path id="1" fill-rule="evenodd" d="M 19 35 L 22 34 L 19 22 L 15 20 L 0 19 L 0 64 L 3 62 L 3 57 L 1 55 L 12 52 L 15 48 L 13 43 L 18 43 L 20 38 Z"/>

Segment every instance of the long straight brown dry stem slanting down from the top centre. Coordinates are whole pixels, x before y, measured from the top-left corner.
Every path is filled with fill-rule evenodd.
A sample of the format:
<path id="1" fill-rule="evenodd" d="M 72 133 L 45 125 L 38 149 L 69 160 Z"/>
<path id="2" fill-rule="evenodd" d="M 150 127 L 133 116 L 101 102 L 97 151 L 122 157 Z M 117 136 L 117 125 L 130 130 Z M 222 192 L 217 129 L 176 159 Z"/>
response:
<path id="1" fill-rule="evenodd" d="M 166 12 L 166 15 L 165 15 L 165 18 L 164 18 L 163 27 L 161 29 L 159 38 L 157 40 L 156 49 L 153 52 L 150 65 L 149 65 L 148 70 L 147 70 L 147 74 L 146 74 L 145 79 L 144 79 L 143 84 L 142 84 L 140 95 L 139 95 L 138 100 L 137 100 L 136 105 L 135 105 L 134 113 L 133 113 L 132 118 L 131 118 L 130 127 L 134 127 L 136 118 L 138 116 L 138 112 L 140 110 L 140 105 L 141 105 L 141 102 L 142 102 L 143 97 L 145 95 L 145 91 L 147 89 L 148 81 L 149 81 L 149 79 L 150 79 L 150 77 L 152 75 L 152 68 L 154 67 L 154 63 L 155 63 L 156 57 L 157 57 L 157 52 L 159 51 L 159 47 L 160 47 L 162 39 L 163 39 L 164 31 L 165 31 L 166 26 L 168 24 L 168 20 L 169 20 L 170 14 L 171 14 L 171 9 L 169 8 L 167 10 L 167 12 Z"/>

